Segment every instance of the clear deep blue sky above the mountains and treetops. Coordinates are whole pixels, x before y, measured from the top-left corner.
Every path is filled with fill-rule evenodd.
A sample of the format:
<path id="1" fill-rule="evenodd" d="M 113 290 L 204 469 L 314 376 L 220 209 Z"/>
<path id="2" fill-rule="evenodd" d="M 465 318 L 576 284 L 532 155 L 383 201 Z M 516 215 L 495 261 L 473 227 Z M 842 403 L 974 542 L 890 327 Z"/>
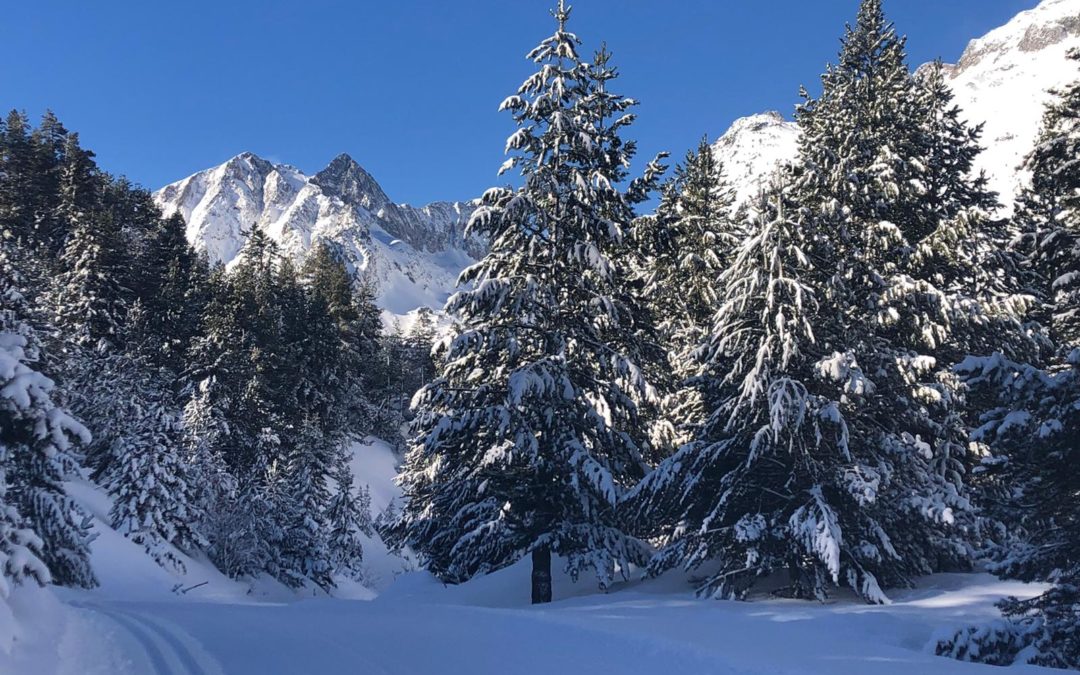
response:
<path id="1" fill-rule="evenodd" d="M 555 0 L 32 0 L 0 23 L 0 106 L 52 108 L 105 168 L 158 188 L 251 150 L 315 172 L 348 152 L 392 199 L 477 195 Z M 886 0 L 914 65 L 1036 0 Z M 642 102 L 642 154 L 789 116 L 835 58 L 858 0 L 578 0 Z"/>

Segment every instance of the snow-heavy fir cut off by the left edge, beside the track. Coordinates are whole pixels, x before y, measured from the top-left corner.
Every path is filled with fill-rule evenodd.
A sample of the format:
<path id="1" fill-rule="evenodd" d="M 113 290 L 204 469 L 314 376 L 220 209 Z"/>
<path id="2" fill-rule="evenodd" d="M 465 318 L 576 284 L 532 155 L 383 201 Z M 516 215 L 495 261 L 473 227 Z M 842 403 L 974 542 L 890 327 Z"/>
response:
<path id="1" fill-rule="evenodd" d="M 3 586 L 94 586 L 89 516 L 64 481 L 79 472 L 77 445 L 90 432 L 53 401 L 54 383 L 37 369 L 40 343 L 28 322 L 16 249 L 0 242 L 0 557 Z"/>

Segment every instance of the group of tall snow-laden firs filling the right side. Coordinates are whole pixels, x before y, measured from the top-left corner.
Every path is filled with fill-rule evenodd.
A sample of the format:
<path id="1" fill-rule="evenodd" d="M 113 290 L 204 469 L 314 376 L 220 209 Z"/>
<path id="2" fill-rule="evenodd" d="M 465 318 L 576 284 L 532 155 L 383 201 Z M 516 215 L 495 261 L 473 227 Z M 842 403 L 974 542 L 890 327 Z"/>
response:
<path id="1" fill-rule="evenodd" d="M 1076 92 L 1003 217 L 940 64 L 913 72 L 864 0 L 802 92 L 797 161 L 735 204 L 707 143 L 662 186 L 659 159 L 631 178 L 633 100 L 569 13 L 501 106 L 519 179 L 470 224 L 491 249 L 447 305 L 393 534 L 455 582 L 530 555 L 536 602 L 553 553 L 602 588 L 683 567 L 714 597 L 887 603 L 998 552 L 1067 579 L 1005 607 L 1050 625 L 1076 602 L 1075 472 L 1047 495 L 1065 513 L 1021 495 L 1076 448 Z"/>

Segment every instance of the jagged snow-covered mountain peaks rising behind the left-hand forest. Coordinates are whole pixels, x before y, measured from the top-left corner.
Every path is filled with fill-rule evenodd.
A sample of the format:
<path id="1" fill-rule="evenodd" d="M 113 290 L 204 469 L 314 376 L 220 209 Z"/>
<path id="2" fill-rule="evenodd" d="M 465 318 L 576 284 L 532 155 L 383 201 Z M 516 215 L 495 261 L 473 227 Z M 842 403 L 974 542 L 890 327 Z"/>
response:
<path id="1" fill-rule="evenodd" d="M 188 240 L 214 261 L 232 261 L 252 228 L 297 259 L 315 241 L 334 242 L 376 280 L 381 307 L 393 314 L 442 308 L 458 272 L 483 252 L 463 235 L 472 203 L 395 204 L 347 154 L 307 176 L 244 152 L 154 198 L 166 215 L 184 216 Z"/>

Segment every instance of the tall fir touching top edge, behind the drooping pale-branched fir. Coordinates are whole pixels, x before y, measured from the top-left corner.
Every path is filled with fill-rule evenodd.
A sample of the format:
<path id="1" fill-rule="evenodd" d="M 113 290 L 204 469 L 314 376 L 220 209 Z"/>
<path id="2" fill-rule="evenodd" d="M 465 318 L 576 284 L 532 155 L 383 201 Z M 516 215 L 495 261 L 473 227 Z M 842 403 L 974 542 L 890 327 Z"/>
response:
<path id="1" fill-rule="evenodd" d="M 820 280 L 821 374 L 869 468 L 851 491 L 880 509 L 867 522 L 882 536 L 862 557 L 885 588 L 964 564 L 974 535 L 964 475 L 977 458 L 950 365 L 988 345 L 1027 347 L 1026 301 L 987 280 L 1004 271 L 983 256 L 996 234 L 993 195 L 971 173 L 977 134 L 933 73 L 920 83 L 904 62 L 879 0 L 865 0 L 821 96 L 798 112 L 798 199 L 814 214 L 815 256 L 835 266 Z"/>

